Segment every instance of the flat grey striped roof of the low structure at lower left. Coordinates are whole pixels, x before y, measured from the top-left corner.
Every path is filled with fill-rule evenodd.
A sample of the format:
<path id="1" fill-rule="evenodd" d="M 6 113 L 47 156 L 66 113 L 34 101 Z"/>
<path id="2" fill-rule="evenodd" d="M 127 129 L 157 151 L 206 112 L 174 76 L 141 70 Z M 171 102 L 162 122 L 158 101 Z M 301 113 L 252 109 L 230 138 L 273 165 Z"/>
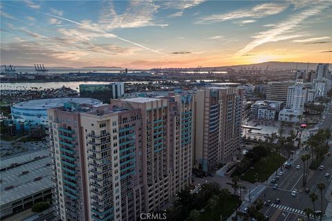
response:
<path id="1" fill-rule="evenodd" d="M 35 158 L 37 156 L 39 156 L 39 159 Z M 14 163 L 21 165 L 0 172 L 0 206 L 53 186 L 53 182 L 50 180 L 51 166 L 48 151 L 37 151 L 2 160 L 1 169 Z M 5 190 L 8 186 L 12 186 L 12 188 Z"/>

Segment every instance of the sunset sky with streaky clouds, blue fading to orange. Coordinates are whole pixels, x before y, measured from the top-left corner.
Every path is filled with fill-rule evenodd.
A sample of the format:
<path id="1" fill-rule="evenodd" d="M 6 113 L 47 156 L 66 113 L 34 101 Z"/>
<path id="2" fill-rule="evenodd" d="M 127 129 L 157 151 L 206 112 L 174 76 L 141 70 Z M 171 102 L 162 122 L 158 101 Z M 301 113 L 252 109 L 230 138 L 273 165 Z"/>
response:
<path id="1" fill-rule="evenodd" d="M 332 1 L 1 1 L 1 64 L 332 61 Z"/>

